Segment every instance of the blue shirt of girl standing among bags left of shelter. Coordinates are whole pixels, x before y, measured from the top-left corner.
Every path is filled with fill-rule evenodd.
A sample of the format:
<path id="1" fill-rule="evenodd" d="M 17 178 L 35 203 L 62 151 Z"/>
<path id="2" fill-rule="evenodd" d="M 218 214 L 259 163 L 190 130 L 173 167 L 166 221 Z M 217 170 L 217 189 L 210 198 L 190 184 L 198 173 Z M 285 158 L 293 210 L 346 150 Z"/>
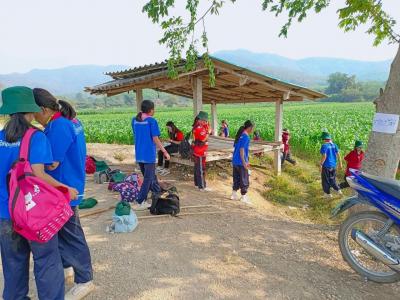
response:
<path id="1" fill-rule="evenodd" d="M 156 144 L 153 137 L 160 136 L 160 128 L 156 119 L 147 117 L 143 121 L 132 120 L 132 130 L 135 137 L 136 162 L 145 164 L 156 163 Z"/>

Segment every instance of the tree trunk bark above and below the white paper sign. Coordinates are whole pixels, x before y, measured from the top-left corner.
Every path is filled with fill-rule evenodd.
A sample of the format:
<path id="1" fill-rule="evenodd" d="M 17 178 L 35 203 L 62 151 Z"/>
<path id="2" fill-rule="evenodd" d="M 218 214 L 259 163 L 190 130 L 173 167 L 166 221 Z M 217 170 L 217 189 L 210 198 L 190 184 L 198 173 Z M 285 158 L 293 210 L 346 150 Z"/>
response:
<path id="1" fill-rule="evenodd" d="M 400 46 L 392 62 L 385 90 L 374 103 L 376 112 L 400 115 Z M 371 132 L 363 171 L 372 175 L 395 178 L 399 160 L 399 128 L 396 134 Z"/>

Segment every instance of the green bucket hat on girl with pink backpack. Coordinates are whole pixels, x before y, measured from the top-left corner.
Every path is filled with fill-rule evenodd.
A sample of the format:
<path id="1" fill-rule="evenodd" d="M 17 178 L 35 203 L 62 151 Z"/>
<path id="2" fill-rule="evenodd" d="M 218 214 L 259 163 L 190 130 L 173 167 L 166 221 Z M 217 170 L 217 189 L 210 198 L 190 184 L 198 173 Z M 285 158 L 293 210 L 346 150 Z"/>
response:
<path id="1" fill-rule="evenodd" d="M 1 92 L 3 105 L 0 107 L 0 115 L 12 115 L 15 113 L 40 112 L 36 105 L 32 89 L 25 86 L 6 88 Z"/>

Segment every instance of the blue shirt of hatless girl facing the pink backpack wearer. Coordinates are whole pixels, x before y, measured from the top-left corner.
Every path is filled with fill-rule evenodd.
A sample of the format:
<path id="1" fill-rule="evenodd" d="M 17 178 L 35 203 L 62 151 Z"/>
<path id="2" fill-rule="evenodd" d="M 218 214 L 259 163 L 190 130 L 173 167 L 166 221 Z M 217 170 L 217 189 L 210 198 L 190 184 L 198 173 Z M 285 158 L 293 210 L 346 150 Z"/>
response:
<path id="1" fill-rule="evenodd" d="M 44 129 L 53 152 L 53 161 L 59 162 L 57 169 L 47 171 L 54 179 L 76 188 L 79 192 L 77 200 L 71 206 L 77 206 L 83 199 L 85 191 L 86 142 L 83 126 L 78 120 L 60 117 Z"/>

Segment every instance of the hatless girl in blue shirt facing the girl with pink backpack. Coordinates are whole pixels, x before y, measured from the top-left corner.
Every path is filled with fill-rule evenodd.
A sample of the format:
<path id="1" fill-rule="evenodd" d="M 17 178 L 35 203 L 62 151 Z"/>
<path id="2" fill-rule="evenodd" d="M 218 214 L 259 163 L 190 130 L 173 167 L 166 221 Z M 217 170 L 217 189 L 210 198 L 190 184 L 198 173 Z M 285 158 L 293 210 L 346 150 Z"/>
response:
<path id="1" fill-rule="evenodd" d="M 35 88 L 33 93 L 36 104 L 41 108 L 35 113 L 35 119 L 45 128 L 44 133 L 53 152 L 53 163 L 47 167 L 47 173 L 79 191 L 78 198 L 71 201 L 74 215 L 59 231 L 58 241 L 66 277 L 75 275 L 75 285 L 65 299 L 81 299 L 94 290 L 90 250 L 77 208 L 85 191 L 85 134 L 68 102 L 57 100 L 44 89 Z"/>

